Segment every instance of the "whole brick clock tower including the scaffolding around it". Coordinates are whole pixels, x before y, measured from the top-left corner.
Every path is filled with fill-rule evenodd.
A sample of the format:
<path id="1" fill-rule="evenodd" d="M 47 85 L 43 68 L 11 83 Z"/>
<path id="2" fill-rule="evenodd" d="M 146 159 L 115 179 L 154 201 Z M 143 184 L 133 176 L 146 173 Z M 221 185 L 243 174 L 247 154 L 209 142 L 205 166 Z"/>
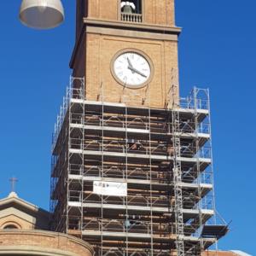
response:
<path id="1" fill-rule="evenodd" d="M 214 222 L 208 90 L 179 96 L 174 0 L 78 0 L 51 229 L 98 256 L 201 255 Z"/>

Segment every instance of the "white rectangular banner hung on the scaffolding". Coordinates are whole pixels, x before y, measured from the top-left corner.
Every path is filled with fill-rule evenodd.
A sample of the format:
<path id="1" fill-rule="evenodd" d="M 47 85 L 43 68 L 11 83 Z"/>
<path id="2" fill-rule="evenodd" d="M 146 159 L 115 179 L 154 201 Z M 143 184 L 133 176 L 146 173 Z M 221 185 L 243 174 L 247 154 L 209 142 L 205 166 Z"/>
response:
<path id="1" fill-rule="evenodd" d="M 93 193 L 97 195 L 127 196 L 127 183 L 94 181 Z"/>

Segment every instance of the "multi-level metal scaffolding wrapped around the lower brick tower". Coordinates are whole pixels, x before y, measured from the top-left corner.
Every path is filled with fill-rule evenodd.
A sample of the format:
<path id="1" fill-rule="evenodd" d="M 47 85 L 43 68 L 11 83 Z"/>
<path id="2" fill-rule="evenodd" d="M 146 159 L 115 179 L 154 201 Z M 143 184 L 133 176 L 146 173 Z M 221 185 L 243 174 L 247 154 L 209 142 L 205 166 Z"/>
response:
<path id="1" fill-rule="evenodd" d="M 225 233 L 209 224 L 209 92 L 194 88 L 164 109 L 145 97 L 141 108 L 105 102 L 102 84 L 88 101 L 84 79 L 70 79 L 53 134 L 52 230 L 90 242 L 97 256 L 201 255 Z"/>

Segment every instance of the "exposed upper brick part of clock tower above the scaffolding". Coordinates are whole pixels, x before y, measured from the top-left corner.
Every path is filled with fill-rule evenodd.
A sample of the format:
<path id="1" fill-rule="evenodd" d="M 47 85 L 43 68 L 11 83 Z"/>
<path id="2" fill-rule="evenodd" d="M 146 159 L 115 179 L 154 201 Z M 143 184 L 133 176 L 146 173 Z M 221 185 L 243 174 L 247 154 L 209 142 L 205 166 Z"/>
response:
<path id="1" fill-rule="evenodd" d="M 73 76 L 84 77 L 87 100 L 164 108 L 180 31 L 174 0 L 77 0 Z"/>

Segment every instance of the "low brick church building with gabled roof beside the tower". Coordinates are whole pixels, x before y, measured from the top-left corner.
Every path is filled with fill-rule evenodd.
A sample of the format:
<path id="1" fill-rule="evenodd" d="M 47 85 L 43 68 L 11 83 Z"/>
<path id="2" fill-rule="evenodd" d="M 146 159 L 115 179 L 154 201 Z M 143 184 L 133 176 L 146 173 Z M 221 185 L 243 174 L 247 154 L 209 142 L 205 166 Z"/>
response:
<path id="1" fill-rule="evenodd" d="M 49 212 L 14 192 L 0 200 L 0 255 L 92 256 L 90 244 L 49 231 Z"/>

